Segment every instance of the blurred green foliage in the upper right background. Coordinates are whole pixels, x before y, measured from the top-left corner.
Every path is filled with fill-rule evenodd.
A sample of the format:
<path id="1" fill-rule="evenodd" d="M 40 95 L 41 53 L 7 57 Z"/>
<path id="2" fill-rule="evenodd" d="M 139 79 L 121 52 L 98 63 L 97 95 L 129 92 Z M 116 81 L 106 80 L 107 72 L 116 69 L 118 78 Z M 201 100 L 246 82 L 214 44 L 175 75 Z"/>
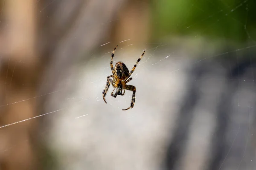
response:
<path id="1" fill-rule="evenodd" d="M 154 0 L 153 39 L 199 35 L 244 42 L 256 37 L 253 0 Z"/>

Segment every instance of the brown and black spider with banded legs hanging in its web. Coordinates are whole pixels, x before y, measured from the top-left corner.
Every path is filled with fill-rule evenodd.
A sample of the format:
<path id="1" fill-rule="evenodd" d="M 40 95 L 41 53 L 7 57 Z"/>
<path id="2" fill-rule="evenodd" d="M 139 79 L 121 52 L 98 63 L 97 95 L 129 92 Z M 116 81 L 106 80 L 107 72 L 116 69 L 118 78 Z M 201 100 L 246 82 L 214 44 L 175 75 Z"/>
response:
<path id="1" fill-rule="evenodd" d="M 118 45 L 116 45 L 117 47 Z M 106 87 L 104 88 L 104 90 L 102 91 L 102 96 L 103 96 L 103 100 L 105 103 L 106 99 L 105 96 L 108 92 L 108 88 L 111 85 L 113 86 L 114 90 L 111 93 L 111 96 L 113 96 L 114 98 L 116 98 L 117 95 L 125 95 L 125 90 L 129 90 L 129 91 L 133 91 L 132 94 L 132 99 L 131 99 L 131 106 L 127 109 L 122 109 L 123 111 L 126 111 L 130 108 L 134 107 L 134 103 L 135 103 L 135 92 L 136 92 L 136 88 L 133 85 L 126 85 L 126 83 L 130 82 L 132 80 L 131 74 L 134 72 L 137 64 L 140 62 L 140 59 L 143 57 L 143 55 L 145 54 L 145 50 L 143 51 L 143 54 L 140 56 L 140 58 L 137 60 L 137 62 L 135 63 L 134 67 L 131 69 L 131 72 L 129 73 L 128 68 L 126 67 L 125 63 L 123 62 L 117 62 L 115 65 L 115 68 L 113 68 L 113 57 L 114 57 L 114 53 L 116 50 L 116 47 L 114 48 L 112 54 L 111 54 L 111 62 L 110 62 L 110 68 L 112 71 L 113 75 L 110 75 L 107 77 L 107 83 L 106 83 Z M 112 78 L 112 79 L 111 79 Z M 116 89 L 116 93 L 113 94 L 113 92 Z M 122 91 L 124 91 L 122 93 Z"/>

